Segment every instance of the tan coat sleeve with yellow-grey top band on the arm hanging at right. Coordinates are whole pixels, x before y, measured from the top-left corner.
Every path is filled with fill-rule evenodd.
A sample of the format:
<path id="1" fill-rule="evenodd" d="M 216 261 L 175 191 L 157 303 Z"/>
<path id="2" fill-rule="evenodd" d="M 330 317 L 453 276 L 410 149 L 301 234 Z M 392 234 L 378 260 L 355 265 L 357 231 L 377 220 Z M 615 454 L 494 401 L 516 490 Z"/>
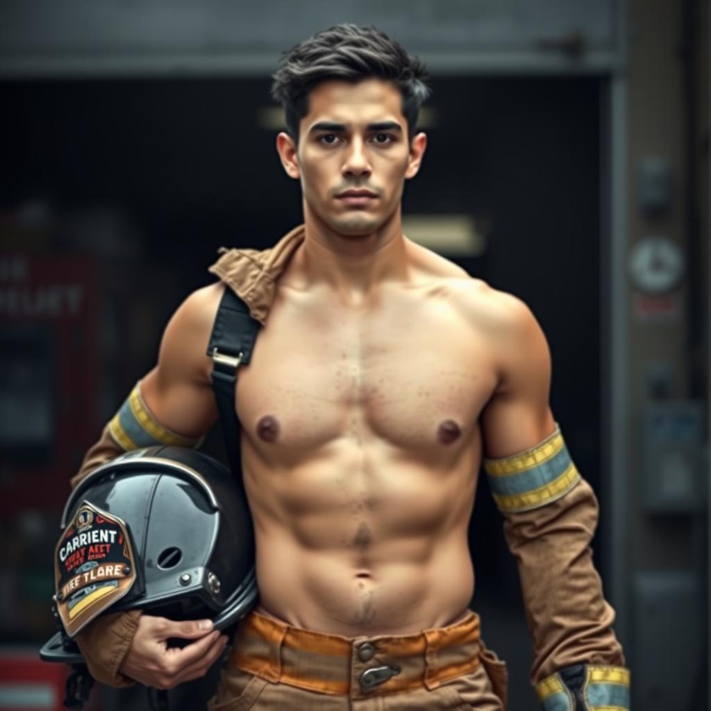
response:
<path id="1" fill-rule="evenodd" d="M 598 501 L 572 463 L 560 427 L 527 451 L 483 464 L 518 563 L 533 638 L 533 685 L 570 665 L 624 668 L 614 609 L 592 562 Z"/>

